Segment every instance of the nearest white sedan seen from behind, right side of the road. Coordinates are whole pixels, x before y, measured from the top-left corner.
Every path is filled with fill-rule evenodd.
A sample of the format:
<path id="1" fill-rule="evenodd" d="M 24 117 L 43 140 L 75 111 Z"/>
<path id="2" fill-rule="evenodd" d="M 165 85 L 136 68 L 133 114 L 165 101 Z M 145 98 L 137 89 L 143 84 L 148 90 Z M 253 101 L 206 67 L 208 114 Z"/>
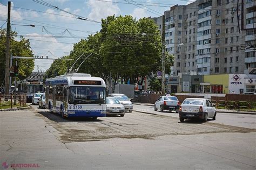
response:
<path id="1" fill-rule="evenodd" d="M 179 120 L 184 122 L 184 119 L 203 119 L 207 118 L 215 120 L 217 111 L 214 104 L 207 98 L 186 98 L 179 108 Z"/>

